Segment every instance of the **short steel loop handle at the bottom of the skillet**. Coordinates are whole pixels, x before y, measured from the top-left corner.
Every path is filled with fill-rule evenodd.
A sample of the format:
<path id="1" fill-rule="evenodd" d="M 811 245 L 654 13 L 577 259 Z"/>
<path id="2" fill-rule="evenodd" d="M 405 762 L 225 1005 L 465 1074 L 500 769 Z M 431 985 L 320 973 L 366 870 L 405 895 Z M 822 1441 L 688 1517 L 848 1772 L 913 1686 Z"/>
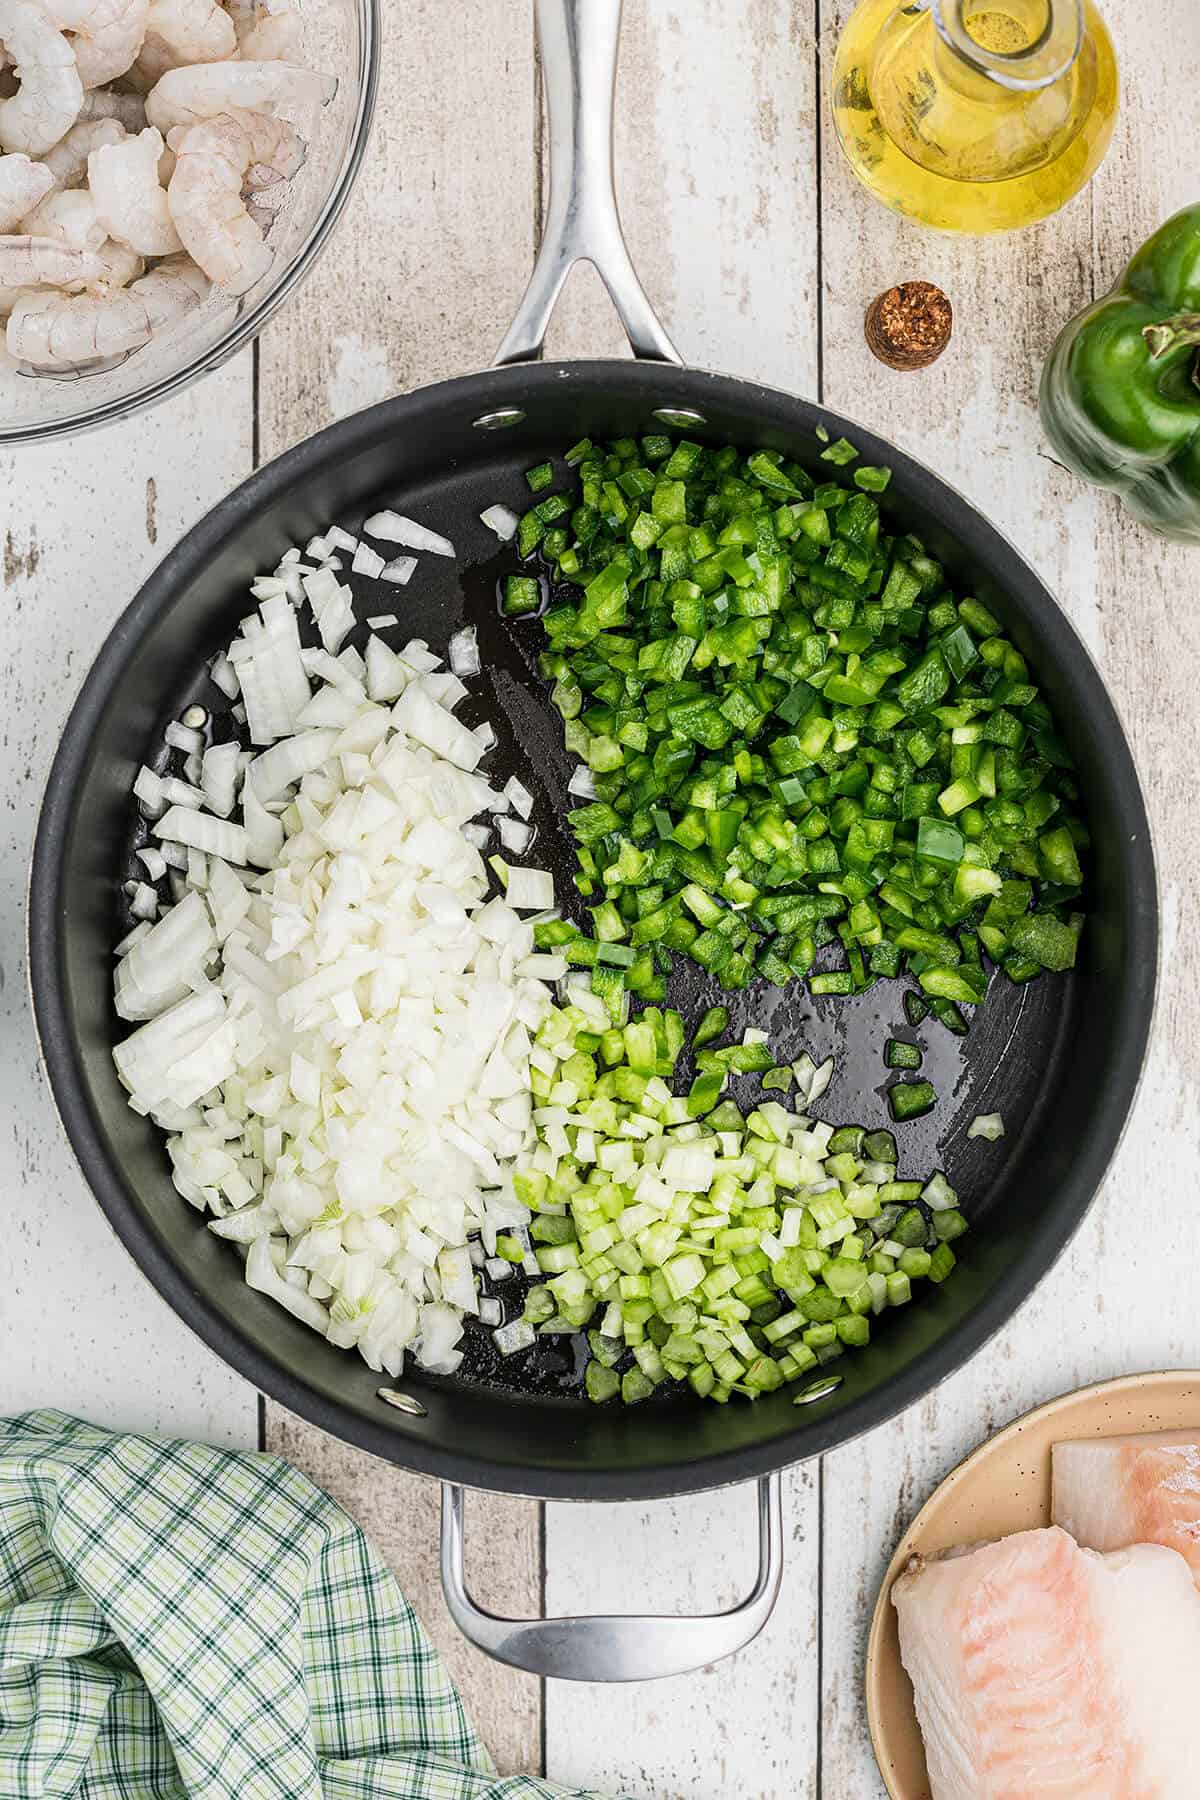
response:
<path id="1" fill-rule="evenodd" d="M 556 1681 L 657 1681 L 732 1656 L 759 1634 L 783 1579 L 781 1476 L 757 1483 L 759 1571 L 750 1595 L 705 1618 L 596 1615 L 497 1618 L 471 1600 L 462 1568 L 462 1489 L 441 1499 L 441 1579 L 450 1616 L 471 1643 L 513 1669 Z"/>

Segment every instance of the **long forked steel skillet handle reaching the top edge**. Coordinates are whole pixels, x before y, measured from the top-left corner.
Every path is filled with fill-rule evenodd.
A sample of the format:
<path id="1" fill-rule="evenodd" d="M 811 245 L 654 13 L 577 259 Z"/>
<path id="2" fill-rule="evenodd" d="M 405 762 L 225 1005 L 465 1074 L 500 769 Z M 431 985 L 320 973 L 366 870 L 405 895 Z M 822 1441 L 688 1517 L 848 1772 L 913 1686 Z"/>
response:
<path id="1" fill-rule="evenodd" d="M 551 203 L 542 250 L 495 367 L 536 362 L 576 263 L 608 288 L 630 347 L 648 362 L 682 364 L 630 261 L 612 175 L 621 0 L 536 0 L 551 124 Z"/>

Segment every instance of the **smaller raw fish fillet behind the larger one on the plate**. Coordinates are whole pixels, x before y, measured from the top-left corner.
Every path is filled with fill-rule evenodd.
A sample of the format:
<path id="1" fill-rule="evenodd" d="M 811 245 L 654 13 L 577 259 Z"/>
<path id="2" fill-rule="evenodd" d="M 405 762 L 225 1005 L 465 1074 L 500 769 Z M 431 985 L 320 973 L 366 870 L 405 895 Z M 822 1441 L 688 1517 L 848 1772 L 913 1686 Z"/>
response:
<path id="1" fill-rule="evenodd" d="M 1056 1444 L 1054 1525 L 1088 1550 L 1169 1544 L 1200 1582 L 1200 1431 Z"/>

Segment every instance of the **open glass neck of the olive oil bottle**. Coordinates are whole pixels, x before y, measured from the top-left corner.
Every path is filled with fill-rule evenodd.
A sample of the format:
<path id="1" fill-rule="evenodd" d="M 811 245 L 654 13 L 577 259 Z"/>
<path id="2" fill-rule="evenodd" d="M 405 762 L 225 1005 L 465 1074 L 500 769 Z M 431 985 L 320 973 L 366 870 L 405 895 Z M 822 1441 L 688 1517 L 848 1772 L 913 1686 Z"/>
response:
<path id="1" fill-rule="evenodd" d="M 1033 94 L 1061 81 L 1083 49 L 1083 0 L 928 0 L 963 74 Z"/>

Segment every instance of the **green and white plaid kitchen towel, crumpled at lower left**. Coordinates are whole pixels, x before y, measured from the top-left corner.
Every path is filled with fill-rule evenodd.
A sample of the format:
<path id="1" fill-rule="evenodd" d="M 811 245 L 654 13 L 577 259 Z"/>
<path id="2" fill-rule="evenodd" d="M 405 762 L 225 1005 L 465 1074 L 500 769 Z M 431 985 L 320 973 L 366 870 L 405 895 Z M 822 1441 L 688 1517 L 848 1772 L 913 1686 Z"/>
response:
<path id="1" fill-rule="evenodd" d="M 286 1462 L 0 1420 L 2 1800 L 569 1793 L 497 1775 L 389 1570 Z"/>

